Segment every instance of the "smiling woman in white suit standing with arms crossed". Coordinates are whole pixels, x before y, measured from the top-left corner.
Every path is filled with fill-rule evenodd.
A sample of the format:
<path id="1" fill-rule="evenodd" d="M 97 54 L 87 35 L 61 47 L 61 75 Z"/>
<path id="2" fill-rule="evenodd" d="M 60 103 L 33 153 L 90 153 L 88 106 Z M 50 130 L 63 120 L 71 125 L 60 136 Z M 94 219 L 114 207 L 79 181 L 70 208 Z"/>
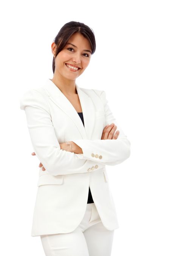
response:
<path id="1" fill-rule="evenodd" d="M 46 256 L 109 256 L 119 225 L 105 165 L 126 160 L 130 141 L 105 91 L 76 84 L 96 49 L 93 30 L 68 22 L 51 48 L 53 79 L 20 99 L 40 160 L 31 236 Z"/>

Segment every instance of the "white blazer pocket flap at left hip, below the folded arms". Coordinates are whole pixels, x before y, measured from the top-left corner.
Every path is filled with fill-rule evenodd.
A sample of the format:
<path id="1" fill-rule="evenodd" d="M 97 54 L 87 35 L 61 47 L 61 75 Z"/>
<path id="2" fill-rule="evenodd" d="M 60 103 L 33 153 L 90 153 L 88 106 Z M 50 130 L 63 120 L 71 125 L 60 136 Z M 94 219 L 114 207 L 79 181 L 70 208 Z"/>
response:
<path id="1" fill-rule="evenodd" d="M 51 175 L 51 174 L 44 174 L 39 177 L 37 186 L 41 185 L 61 185 L 63 184 L 63 176 L 64 175 Z"/>

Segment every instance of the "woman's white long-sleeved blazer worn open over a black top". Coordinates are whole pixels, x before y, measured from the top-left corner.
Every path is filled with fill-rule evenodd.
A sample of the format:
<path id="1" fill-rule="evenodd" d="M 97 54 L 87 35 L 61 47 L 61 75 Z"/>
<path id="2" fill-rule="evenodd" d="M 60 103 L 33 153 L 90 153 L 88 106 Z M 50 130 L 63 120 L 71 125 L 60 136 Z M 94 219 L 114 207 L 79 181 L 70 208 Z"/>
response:
<path id="1" fill-rule="evenodd" d="M 75 108 L 48 79 L 20 98 L 25 110 L 32 146 L 45 167 L 39 168 L 31 236 L 72 232 L 87 207 L 89 186 L 103 225 L 119 228 L 105 165 L 117 165 L 130 156 L 130 141 L 107 104 L 105 91 L 76 84 L 84 125 Z M 116 140 L 101 140 L 107 124 L 119 130 Z M 83 154 L 60 149 L 73 141 Z"/>

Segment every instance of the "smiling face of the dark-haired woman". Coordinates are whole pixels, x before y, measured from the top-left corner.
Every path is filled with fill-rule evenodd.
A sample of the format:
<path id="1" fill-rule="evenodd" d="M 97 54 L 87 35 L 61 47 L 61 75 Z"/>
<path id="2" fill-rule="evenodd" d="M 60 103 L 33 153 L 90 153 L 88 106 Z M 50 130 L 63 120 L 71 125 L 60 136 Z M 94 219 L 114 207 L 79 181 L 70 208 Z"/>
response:
<path id="1" fill-rule="evenodd" d="M 54 42 L 51 47 L 54 53 L 56 47 Z M 90 58 L 90 42 L 87 38 L 76 32 L 70 37 L 65 47 L 57 55 L 54 75 L 59 73 L 66 79 L 75 80 L 85 71 L 90 63 Z M 73 65 L 78 69 L 72 69 L 70 66 L 66 66 L 66 64 Z"/>

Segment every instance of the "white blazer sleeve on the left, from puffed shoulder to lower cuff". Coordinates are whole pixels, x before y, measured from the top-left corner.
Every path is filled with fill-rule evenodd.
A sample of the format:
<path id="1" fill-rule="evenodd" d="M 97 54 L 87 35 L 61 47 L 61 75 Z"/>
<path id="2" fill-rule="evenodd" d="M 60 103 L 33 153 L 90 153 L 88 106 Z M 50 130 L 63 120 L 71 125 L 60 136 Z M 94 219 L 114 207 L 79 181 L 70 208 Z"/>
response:
<path id="1" fill-rule="evenodd" d="M 36 89 L 27 91 L 20 98 L 20 109 L 25 110 L 34 152 L 49 174 L 86 173 L 105 166 L 100 163 L 97 169 L 90 170 L 91 166 L 96 165 L 93 159 L 81 159 L 78 154 L 60 148 L 49 105 L 42 93 Z"/>

